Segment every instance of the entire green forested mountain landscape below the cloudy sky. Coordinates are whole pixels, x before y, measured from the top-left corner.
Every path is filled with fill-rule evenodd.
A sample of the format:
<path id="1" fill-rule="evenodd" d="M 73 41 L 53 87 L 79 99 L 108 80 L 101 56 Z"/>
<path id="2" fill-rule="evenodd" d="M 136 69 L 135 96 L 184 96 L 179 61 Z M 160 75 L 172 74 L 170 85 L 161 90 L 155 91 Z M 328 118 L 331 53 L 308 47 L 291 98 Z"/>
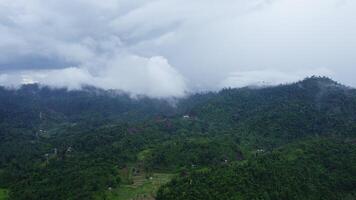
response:
<path id="1" fill-rule="evenodd" d="M 170 174 L 157 199 L 355 199 L 355 138 L 356 90 L 325 77 L 169 100 L 1 88 L 0 188 L 10 199 L 150 199 L 163 182 L 120 192 Z"/>

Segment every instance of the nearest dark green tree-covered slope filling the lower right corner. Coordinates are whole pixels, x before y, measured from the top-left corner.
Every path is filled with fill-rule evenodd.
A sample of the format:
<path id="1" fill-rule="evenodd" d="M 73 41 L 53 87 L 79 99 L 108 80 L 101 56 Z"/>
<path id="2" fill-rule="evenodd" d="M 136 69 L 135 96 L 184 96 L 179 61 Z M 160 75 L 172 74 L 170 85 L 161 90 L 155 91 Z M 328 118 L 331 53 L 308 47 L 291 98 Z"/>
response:
<path id="1" fill-rule="evenodd" d="M 311 140 L 174 179 L 157 200 L 356 198 L 356 145 Z"/>

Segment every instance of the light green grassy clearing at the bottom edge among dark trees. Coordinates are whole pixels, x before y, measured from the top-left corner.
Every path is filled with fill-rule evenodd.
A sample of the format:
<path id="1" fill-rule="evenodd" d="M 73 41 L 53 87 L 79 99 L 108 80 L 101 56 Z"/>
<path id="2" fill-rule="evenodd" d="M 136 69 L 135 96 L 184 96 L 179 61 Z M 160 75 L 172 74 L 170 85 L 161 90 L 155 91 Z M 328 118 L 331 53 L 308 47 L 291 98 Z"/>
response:
<path id="1" fill-rule="evenodd" d="M 147 179 L 145 176 L 134 176 L 132 185 L 122 185 L 107 192 L 108 200 L 153 200 L 157 190 L 168 183 L 173 174 L 155 173 Z"/>

